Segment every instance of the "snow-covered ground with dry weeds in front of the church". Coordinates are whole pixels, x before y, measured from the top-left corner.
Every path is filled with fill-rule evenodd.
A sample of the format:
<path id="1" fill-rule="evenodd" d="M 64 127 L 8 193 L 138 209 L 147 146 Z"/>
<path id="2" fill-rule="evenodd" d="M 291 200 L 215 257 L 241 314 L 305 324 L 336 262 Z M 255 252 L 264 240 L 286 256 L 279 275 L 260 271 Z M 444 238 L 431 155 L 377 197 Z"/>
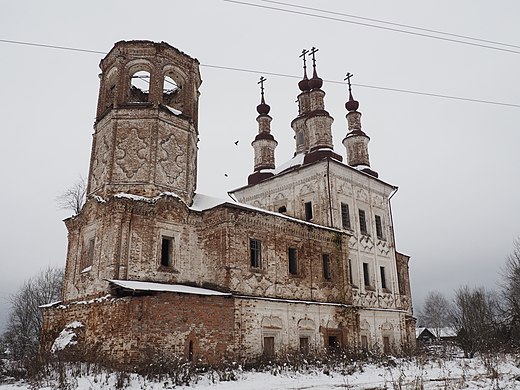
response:
<path id="1" fill-rule="evenodd" d="M 118 383 L 125 389 L 520 389 L 520 357 L 478 357 L 474 359 L 429 360 L 395 359 L 391 364 L 353 364 L 346 370 L 323 372 L 311 369 L 305 373 L 282 368 L 270 372 L 243 372 L 234 370 L 234 381 L 219 381 L 218 374 L 203 374 L 191 386 L 175 387 L 165 378 L 150 381 L 130 374 L 69 375 L 66 379 L 72 389 L 115 389 Z M 395 363 L 395 366 L 394 364 Z M 348 371 L 348 372 L 346 372 Z M 57 382 L 3 384 L 0 390 L 29 390 L 57 388 Z"/>

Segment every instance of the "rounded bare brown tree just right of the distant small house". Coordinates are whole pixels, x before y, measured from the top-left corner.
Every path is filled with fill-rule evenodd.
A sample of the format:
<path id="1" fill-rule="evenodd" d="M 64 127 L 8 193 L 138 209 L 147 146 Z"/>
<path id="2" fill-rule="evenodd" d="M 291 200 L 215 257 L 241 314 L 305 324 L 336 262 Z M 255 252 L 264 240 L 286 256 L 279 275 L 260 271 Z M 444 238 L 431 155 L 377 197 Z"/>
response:
<path id="1" fill-rule="evenodd" d="M 493 293 L 483 287 L 460 287 L 450 312 L 450 321 L 457 333 L 457 342 L 464 356 L 473 357 L 496 346 L 497 312 Z"/>

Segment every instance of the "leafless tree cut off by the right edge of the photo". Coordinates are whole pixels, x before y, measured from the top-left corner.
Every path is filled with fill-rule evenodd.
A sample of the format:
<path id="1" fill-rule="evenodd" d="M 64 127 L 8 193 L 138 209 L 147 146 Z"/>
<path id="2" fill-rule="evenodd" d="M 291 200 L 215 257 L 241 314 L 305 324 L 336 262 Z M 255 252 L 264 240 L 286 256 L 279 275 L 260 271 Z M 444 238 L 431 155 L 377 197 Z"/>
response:
<path id="1" fill-rule="evenodd" d="M 507 258 L 502 277 L 502 297 L 509 338 L 520 344 L 520 238 L 513 243 L 513 252 Z"/>

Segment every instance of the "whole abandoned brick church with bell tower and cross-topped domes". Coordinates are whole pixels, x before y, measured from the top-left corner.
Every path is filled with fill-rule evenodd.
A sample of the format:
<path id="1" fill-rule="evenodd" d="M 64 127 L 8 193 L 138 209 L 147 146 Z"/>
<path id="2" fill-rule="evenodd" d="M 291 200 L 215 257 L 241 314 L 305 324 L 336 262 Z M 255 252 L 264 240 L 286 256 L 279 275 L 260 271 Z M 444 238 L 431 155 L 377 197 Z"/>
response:
<path id="1" fill-rule="evenodd" d="M 196 192 L 199 62 L 164 42 L 115 44 L 100 63 L 87 200 L 65 220 L 62 301 L 42 308 L 45 351 L 135 366 L 414 347 L 397 187 L 370 166 L 350 75 L 345 162 L 334 150 L 315 53 L 295 83 L 294 155 L 275 163 L 262 78 L 254 168 L 219 200 Z"/>

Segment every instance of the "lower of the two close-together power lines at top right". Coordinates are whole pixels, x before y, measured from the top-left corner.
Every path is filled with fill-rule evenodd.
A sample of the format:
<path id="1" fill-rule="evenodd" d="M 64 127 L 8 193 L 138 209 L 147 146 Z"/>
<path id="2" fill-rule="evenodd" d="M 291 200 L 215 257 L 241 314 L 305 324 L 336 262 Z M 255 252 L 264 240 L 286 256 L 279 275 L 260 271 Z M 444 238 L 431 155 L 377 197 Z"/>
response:
<path id="1" fill-rule="evenodd" d="M 507 52 L 507 53 L 520 54 L 520 51 L 517 51 L 517 50 L 504 49 L 504 48 L 501 48 L 501 47 L 489 46 L 489 45 L 484 45 L 484 44 L 480 44 L 480 43 L 473 43 L 473 42 L 467 42 L 467 41 L 461 41 L 461 40 L 452 39 L 452 38 L 438 37 L 438 36 L 435 36 L 435 35 L 429 35 L 429 34 L 424 34 L 424 33 L 419 33 L 419 32 L 401 30 L 401 29 L 398 29 L 398 28 L 378 26 L 376 24 L 355 22 L 353 20 L 346 20 L 346 19 L 336 18 L 336 17 L 332 17 L 332 16 L 316 15 L 316 14 L 311 14 L 311 13 L 308 13 L 308 12 L 294 11 L 294 10 L 289 10 L 289 9 L 285 9 L 285 8 L 271 7 L 271 6 L 267 6 L 267 5 L 248 3 L 248 2 L 245 2 L 245 1 L 238 1 L 238 0 L 223 0 L 223 1 L 225 1 L 227 3 L 234 3 L 234 4 L 245 5 L 245 6 L 249 6 L 249 7 L 270 9 L 270 10 L 274 10 L 274 11 L 287 12 L 287 13 L 296 14 L 296 15 L 304 15 L 304 16 L 310 16 L 310 17 L 313 17 L 313 18 L 333 20 L 333 21 L 336 21 L 336 22 L 356 24 L 356 25 L 365 26 L 365 27 L 372 27 L 372 28 L 377 28 L 377 29 L 380 29 L 380 30 L 400 32 L 400 33 L 403 33 L 403 34 L 415 35 L 415 36 L 419 36 L 419 37 L 423 37 L 423 38 L 431 38 L 431 39 L 437 39 L 437 40 L 440 40 L 440 41 L 460 43 L 462 45 L 476 46 L 476 47 L 482 47 L 482 48 L 485 48 L 485 49 L 492 49 L 492 50 L 498 50 L 498 51 L 503 51 L 503 52 Z"/>

